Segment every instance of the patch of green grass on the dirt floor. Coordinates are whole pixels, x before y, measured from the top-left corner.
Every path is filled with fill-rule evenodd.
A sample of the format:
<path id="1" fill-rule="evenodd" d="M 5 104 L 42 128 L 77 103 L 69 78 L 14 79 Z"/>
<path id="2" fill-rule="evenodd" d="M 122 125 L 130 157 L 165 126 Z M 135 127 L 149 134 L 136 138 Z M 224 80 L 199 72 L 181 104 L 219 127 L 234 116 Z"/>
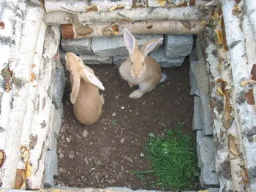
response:
<path id="1" fill-rule="evenodd" d="M 146 174 L 152 174 L 154 182 L 146 180 L 149 187 L 160 187 L 162 190 L 183 191 L 192 189 L 198 183 L 199 168 L 195 141 L 181 133 L 183 124 L 165 137 L 151 137 L 146 145 L 146 158 L 151 162 L 151 171 L 132 172 L 145 181 Z M 148 175 L 148 177 L 150 177 Z"/>

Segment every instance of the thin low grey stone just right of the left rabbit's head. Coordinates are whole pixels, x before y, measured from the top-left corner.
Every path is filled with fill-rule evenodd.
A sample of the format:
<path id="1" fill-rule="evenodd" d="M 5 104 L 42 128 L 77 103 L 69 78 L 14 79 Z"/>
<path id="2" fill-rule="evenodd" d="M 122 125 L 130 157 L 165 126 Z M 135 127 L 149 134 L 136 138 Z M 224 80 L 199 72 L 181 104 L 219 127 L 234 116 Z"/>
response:
<path id="1" fill-rule="evenodd" d="M 97 55 L 79 55 L 86 65 L 113 64 L 113 57 L 99 57 Z"/>

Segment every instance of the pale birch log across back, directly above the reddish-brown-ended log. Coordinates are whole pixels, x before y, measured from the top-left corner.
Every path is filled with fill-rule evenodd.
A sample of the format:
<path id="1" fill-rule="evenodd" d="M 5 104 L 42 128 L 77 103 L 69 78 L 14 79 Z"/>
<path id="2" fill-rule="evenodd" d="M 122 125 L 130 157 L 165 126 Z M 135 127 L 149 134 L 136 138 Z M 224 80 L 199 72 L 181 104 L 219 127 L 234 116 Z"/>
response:
<path id="1" fill-rule="evenodd" d="M 110 23 L 118 20 L 135 22 L 138 20 L 210 20 L 212 7 L 154 7 L 137 9 L 117 9 L 113 12 L 50 12 L 45 14 L 45 23 Z"/>

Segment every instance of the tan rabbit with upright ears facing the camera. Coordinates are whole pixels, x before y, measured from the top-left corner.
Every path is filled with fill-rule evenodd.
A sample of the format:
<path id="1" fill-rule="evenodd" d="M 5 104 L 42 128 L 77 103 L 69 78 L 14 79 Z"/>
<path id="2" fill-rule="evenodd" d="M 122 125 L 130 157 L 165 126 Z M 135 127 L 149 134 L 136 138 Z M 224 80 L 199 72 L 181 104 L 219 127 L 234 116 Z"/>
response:
<path id="1" fill-rule="evenodd" d="M 162 74 L 157 61 L 148 56 L 148 53 L 162 43 L 162 40 L 163 38 L 146 42 L 139 50 L 135 37 L 127 28 L 124 28 L 124 43 L 129 51 L 129 58 L 121 64 L 119 72 L 130 87 L 133 85 L 139 87 L 129 95 L 130 98 L 140 98 L 166 79 L 166 75 Z"/>

